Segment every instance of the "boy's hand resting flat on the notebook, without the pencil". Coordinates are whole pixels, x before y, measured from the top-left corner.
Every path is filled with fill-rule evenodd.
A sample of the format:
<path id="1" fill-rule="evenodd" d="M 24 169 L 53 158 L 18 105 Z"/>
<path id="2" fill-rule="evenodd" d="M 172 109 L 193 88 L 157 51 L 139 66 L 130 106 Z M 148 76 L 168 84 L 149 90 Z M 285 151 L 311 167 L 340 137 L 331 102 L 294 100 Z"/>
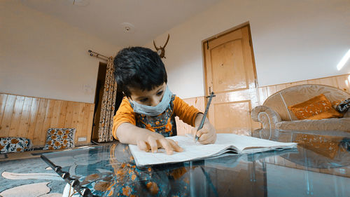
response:
<path id="1" fill-rule="evenodd" d="M 159 148 L 164 148 L 167 154 L 173 154 L 174 151 L 183 151 L 174 140 L 167 139 L 159 133 L 140 137 L 137 140 L 137 147 L 142 151 L 152 151 L 153 153 L 156 153 Z"/>

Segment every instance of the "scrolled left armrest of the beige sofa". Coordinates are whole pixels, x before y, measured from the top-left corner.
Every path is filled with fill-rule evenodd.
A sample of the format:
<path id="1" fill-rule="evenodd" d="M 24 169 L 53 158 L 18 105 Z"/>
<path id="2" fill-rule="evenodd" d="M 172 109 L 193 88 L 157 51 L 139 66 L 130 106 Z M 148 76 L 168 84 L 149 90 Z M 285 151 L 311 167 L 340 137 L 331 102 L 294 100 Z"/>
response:
<path id="1" fill-rule="evenodd" d="M 275 128 L 275 124 L 281 122 L 281 116 L 273 109 L 260 105 L 251 110 L 251 118 L 255 122 L 262 123 L 262 128 Z"/>

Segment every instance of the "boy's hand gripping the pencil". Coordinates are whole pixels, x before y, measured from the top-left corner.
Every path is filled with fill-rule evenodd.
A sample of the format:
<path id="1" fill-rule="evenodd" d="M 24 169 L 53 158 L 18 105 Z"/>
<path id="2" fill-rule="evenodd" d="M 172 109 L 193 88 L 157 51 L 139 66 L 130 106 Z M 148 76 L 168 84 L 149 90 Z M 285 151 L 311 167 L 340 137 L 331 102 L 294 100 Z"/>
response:
<path id="1" fill-rule="evenodd" d="M 213 125 L 209 121 L 205 121 L 201 130 L 198 130 L 198 127 L 193 128 L 191 131 L 192 135 L 195 137 L 200 137 L 198 142 L 201 144 L 214 144 L 216 141 L 216 130 Z"/>

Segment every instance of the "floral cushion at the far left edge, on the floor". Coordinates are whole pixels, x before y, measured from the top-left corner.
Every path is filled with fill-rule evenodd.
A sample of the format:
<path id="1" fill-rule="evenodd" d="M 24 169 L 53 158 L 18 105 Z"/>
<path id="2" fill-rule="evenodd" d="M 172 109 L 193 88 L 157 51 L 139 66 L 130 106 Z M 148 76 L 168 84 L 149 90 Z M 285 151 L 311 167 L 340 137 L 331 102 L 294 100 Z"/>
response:
<path id="1" fill-rule="evenodd" d="M 0 137 L 0 154 L 31 151 L 33 144 L 25 137 Z"/>

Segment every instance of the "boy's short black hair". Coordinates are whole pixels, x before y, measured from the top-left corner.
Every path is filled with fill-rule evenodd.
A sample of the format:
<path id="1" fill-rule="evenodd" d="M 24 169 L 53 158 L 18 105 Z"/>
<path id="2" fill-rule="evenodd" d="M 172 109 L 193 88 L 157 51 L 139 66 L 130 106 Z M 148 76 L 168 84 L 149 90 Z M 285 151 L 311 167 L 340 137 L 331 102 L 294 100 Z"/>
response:
<path id="1" fill-rule="evenodd" d="M 160 56 L 149 48 L 123 48 L 114 57 L 113 64 L 118 88 L 127 97 L 131 95 L 129 88 L 149 91 L 167 83 L 167 72 Z"/>

